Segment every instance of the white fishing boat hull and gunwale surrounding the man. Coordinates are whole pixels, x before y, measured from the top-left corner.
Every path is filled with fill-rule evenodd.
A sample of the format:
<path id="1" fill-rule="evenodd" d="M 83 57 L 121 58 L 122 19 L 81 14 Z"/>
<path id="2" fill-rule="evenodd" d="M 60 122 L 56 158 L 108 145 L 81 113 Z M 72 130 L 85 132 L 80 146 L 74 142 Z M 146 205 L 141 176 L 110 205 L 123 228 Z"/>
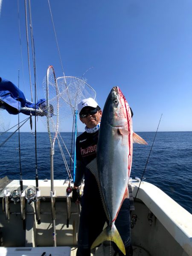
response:
<path id="1" fill-rule="evenodd" d="M 4 183 L 5 185 L 5 183 Z M 73 184 L 71 184 L 73 186 Z M 138 182 L 132 182 L 133 195 L 136 195 Z M 55 180 L 56 192 L 56 242 L 58 248 L 70 247 L 71 254 L 51 253 L 56 255 L 76 255 L 77 233 L 79 228 L 79 206 L 71 203 L 71 218 L 67 227 L 66 189 L 67 180 Z M 35 189 L 34 180 L 23 180 L 24 189 Z M 7 182 L 1 186 L 0 198 L 4 196 L 5 189 L 19 189 L 19 180 Z M 39 248 L 47 251 L 47 247 L 53 246 L 52 219 L 50 202 L 50 180 L 39 180 L 41 189 L 41 224 L 37 224 L 35 218 L 34 203 L 26 203 L 26 229 L 23 230 L 23 221 L 20 219 L 20 204 L 10 202 L 10 218 L 6 220 L 0 205 L 0 256 L 4 256 L 3 250 L 7 250 L 6 256 L 25 255 L 31 256 L 31 251 L 19 254 L 18 247 Z M 172 200 L 163 191 L 151 183 L 142 182 L 135 202 L 135 210 L 131 217 L 137 215 L 137 222 L 131 229 L 131 243 L 134 248 L 134 256 L 192 256 L 192 215 L 183 207 Z M 10 247 L 17 250 L 13 253 Z M 7 248 L 7 249 L 6 249 Z M 33 249 L 36 250 L 36 249 Z M 54 249 L 56 250 L 56 249 Z M 66 249 L 68 250 L 68 249 Z M 10 252 L 10 253 L 9 253 Z M 63 254 L 62 254 L 63 253 Z M 93 250 L 93 255 L 109 255 L 108 244 L 105 243 Z M 41 253 L 38 253 L 41 256 Z M 47 254 L 49 256 L 49 254 Z"/>

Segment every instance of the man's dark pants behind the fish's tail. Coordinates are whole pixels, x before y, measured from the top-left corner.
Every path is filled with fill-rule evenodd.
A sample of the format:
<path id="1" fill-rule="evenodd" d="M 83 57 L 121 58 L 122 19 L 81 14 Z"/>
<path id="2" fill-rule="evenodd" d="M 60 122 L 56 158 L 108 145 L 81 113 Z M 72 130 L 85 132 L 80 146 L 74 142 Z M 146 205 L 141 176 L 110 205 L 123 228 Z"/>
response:
<path id="1" fill-rule="evenodd" d="M 82 208 L 79 225 L 78 236 L 78 250 L 76 256 L 90 256 L 90 247 L 93 241 L 99 236 L 103 230 L 103 226 L 107 221 L 105 211 L 103 209 L 101 200 L 88 201 L 84 196 L 82 197 Z M 115 226 L 122 238 L 126 247 L 129 248 L 131 244 L 130 239 L 130 202 L 125 199 L 122 207 L 119 210 L 115 221 Z M 116 244 L 113 244 L 113 249 L 119 252 Z M 126 249 L 126 251 L 128 251 Z M 126 255 L 129 255 L 126 253 Z"/>

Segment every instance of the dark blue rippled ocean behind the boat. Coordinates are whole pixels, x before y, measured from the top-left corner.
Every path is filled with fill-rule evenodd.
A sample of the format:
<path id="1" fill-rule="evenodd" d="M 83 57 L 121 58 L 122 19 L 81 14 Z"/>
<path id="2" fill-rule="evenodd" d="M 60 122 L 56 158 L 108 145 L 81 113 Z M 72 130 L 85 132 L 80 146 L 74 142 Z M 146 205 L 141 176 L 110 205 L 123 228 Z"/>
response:
<path id="1" fill-rule="evenodd" d="M 0 144 L 10 136 L 0 136 Z M 134 144 L 131 177 L 142 177 L 155 132 L 138 132 L 148 145 Z M 72 133 L 61 133 L 71 151 Z M 39 179 L 50 179 L 50 142 L 47 133 L 37 133 L 37 164 Z M 64 147 L 63 147 L 64 148 Z M 35 178 L 35 136 L 20 133 L 21 171 L 23 179 Z M 67 151 L 63 149 L 64 154 Z M 73 150 L 72 150 L 73 152 Z M 70 157 L 67 156 L 70 165 Z M 71 163 L 73 176 L 73 163 Z M 20 179 L 18 133 L 0 147 L 0 177 Z M 151 155 L 145 170 L 145 181 L 162 189 L 192 213 L 192 132 L 157 132 Z M 55 143 L 54 178 L 67 178 L 58 143 Z"/>

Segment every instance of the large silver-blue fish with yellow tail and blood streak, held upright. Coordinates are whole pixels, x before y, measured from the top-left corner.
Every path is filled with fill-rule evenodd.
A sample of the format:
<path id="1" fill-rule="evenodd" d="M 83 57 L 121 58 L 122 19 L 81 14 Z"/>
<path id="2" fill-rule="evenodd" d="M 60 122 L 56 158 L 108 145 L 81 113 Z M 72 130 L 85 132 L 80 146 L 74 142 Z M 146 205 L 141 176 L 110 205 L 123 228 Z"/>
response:
<path id="1" fill-rule="evenodd" d="M 115 226 L 122 202 L 128 197 L 133 143 L 147 144 L 132 130 L 129 105 L 119 87 L 113 87 L 105 102 L 99 129 L 97 158 L 87 165 L 95 175 L 109 224 L 93 242 L 113 241 L 125 254 L 125 246 Z"/>

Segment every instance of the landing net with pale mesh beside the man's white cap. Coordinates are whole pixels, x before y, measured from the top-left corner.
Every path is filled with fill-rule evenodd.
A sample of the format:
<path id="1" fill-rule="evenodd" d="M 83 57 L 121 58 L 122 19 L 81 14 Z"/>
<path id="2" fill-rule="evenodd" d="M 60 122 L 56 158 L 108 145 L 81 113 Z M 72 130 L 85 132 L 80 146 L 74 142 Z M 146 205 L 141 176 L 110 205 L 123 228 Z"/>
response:
<path id="1" fill-rule="evenodd" d="M 52 66 L 49 66 L 47 70 L 47 77 L 44 78 L 43 87 L 45 98 L 47 99 L 48 118 L 47 123 L 45 122 L 46 117 L 42 116 L 42 120 L 48 128 L 50 142 L 55 143 L 55 139 L 58 142 L 65 169 L 72 180 L 69 167 L 69 162 L 73 162 L 72 143 L 69 145 L 69 139 L 65 142 L 61 132 L 66 131 L 66 127 L 70 127 L 70 131 L 72 131 L 74 113 L 78 103 L 89 97 L 95 99 L 96 92 L 87 84 L 85 79 L 74 76 L 64 76 L 56 79 Z"/>

